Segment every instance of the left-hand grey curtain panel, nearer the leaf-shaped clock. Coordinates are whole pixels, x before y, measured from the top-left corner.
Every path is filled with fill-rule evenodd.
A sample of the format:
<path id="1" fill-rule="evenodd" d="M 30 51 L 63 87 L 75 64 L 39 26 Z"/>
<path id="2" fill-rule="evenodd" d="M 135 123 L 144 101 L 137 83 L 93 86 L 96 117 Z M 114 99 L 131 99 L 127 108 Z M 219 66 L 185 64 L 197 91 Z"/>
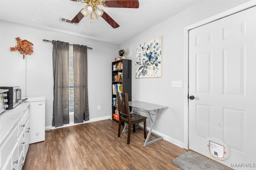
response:
<path id="1" fill-rule="evenodd" d="M 53 116 L 52 126 L 69 123 L 68 113 L 68 51 L 69 43 L 52 41 L 53 62 Z"/>

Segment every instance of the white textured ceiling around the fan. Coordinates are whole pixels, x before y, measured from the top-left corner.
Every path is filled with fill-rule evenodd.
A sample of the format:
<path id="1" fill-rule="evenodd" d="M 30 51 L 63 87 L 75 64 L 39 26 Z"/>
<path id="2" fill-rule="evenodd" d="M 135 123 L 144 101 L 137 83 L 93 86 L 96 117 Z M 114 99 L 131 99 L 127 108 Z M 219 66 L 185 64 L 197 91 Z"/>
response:
<path id="1" fill-rule="evenodd" d="M 139 0 L 138 9 L 99 6 L 120 25 L 116 29 L 103 18 L 90 23 L 84 17 L 78 25 L 61 22 L 61 17 L 72 20 L 86 5 L 71 0 L 0 0 L 0 20 L 121 44 L 198 1 Z"/>

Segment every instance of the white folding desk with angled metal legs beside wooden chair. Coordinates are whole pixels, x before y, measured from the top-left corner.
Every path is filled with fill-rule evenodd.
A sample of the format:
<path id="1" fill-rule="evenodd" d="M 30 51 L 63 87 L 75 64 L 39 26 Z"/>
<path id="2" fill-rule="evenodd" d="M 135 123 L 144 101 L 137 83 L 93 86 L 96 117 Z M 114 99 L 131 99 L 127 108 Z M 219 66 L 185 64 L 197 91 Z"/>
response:
<path id="1" fill-rule="evenodd" d="M 159 135 L 154 134 L 155 136 L 158 137 L 158 139 L 155 139 L 153 141 L 148 142 L 148 139 L 150 137 L 150 134 L 151 134 L 152 129 L 154 127 L 154 124 L 156 122 L 156 118 L 158 116 L 158 113 L 160 112 L 161 109 L 168 108 L 168 107 L 167 106 L 157 105 L 157 104 L 146 103 L 146 102 L 140 102 L 140 101 L 130 101 L 129 102 L 129 106 L 132 107 L 131 113 L 133 113 L 134 110 L 144 111 L 144 112 L 148 113 L 148 115 L 149 115 L 149 117 L 150 117 L 150 119 L 152 121 L 152 125 L 150 127 L 150 130 L 148 131 L 148 136 L 147 136 L 146 141 L 144 143 L 144 147 L 146 147 L 146 146 L 148 146 L 148 145 L 150 145 L 152 143 L 155 143 L 157 141 L 162 140 L 163 137 L 160 137 Z M 152 119 L 153 116 L 155 116 L 154 119 Z M 125 124 L 123 132 L 127 131 L 126 128 L 127 128 L 127 124 Z"/>

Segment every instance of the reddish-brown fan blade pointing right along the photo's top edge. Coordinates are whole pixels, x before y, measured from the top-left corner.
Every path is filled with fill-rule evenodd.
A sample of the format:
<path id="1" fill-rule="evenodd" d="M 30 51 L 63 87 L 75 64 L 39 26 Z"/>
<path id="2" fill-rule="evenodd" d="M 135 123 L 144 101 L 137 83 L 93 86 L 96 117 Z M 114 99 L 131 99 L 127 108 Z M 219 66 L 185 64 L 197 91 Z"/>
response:
<path id="1" fill-rule="evenodd" d="M 113 8 L 139 8 L 138 0 L 105 0 L 102 3 Z"/>

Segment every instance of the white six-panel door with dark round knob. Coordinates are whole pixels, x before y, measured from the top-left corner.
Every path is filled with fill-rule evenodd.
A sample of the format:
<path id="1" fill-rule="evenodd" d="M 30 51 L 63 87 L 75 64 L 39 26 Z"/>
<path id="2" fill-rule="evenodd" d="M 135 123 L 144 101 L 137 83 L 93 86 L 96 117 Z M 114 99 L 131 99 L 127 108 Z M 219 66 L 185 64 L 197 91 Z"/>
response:
<path id="1" fill-rule="evenodd" d="M 216 161 L 255 164 L 255 7 L 189 31 L 189 96 L 189 149 L 216 160 L 205 147 L 213 137 L 230 148 Z"/>

